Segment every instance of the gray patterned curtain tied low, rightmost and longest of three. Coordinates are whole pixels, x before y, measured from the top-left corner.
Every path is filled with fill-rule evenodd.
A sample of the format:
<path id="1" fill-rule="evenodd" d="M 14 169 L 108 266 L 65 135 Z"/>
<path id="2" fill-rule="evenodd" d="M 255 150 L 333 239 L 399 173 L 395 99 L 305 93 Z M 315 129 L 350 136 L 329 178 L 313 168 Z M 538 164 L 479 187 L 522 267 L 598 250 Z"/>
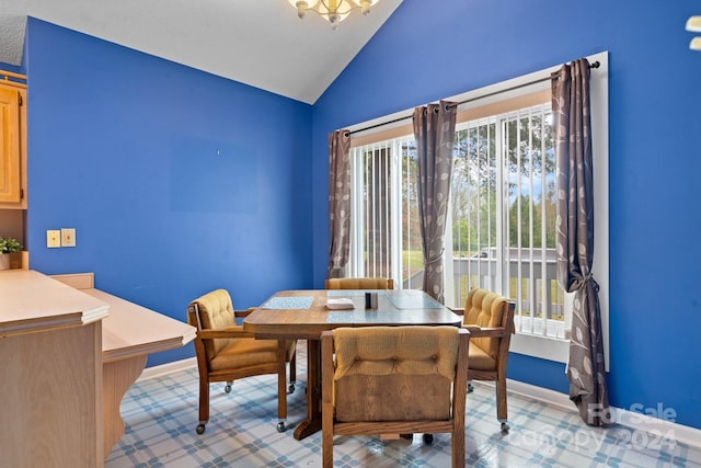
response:
<path id="1" fill-rule="evenodd" d="M 567 379 L 570 399 L 590 425 L 609 419 L 599 285 L 594 258 L 594 183 L 589 62 L 564 65 L 552 82 L 556 163 L 558 281 L 575 293 Z"/>

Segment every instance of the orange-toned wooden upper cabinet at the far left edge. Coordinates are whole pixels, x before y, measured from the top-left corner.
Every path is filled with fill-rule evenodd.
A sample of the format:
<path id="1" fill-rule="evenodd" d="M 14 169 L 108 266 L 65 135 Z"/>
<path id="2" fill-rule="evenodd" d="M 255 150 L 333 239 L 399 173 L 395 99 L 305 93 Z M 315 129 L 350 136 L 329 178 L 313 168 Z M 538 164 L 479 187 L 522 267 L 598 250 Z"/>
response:
<path id="1" fill-rule="evenodd" d="M 0 208 L 26 209 L 26 85 L 0 71 Z"/>

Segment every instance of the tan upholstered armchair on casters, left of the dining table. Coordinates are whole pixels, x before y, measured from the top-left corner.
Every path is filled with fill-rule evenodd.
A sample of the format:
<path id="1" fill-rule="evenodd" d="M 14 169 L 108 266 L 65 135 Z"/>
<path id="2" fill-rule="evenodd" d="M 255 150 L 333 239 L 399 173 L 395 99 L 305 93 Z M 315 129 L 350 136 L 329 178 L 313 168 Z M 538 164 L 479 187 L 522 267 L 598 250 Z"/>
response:
<path id="1" fill-rule="evenodd" d="M 255 340 L 235 319 L 248 311 L 234 311 L 226 289 L 216 289 L 193 300 L 187 322 L 197 328 L 195 353 L 199 369 L 199 424 L 205 432 L 209 421 L 209 384 L 226 381 L 231 392 L 233 380 L 263 374 L 277 374 L 277 430 L 285 431 L 287 418 L 286 364 L 289 363 L 289 392 L 295 391 L 296 340 Z"/>

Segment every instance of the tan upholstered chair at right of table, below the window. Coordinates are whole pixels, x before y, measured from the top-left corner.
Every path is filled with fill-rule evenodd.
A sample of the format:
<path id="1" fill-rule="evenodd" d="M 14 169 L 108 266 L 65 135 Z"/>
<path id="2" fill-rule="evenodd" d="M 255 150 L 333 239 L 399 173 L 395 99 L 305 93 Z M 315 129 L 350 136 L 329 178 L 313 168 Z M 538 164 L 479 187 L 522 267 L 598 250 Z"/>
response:
<path id="1" fill-rule="evenodd" d="M 496 419 L 508 431 L 506 364 L 514 333 L 516 304 L 496 293 L 473 288 L 462 310 L 462 327 L 470 330 L 470 380 L 492 380 L 496 387 Z M 456 309 L 459 313 L 461 310 Z M 469 384 L 469 391 L 471 385 Z"/>

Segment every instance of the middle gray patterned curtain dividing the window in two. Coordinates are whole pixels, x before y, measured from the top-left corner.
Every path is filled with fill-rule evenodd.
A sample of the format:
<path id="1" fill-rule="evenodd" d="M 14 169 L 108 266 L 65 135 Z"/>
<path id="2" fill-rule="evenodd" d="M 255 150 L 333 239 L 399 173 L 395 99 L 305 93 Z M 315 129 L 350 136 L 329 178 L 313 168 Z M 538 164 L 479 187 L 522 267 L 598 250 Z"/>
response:
<path id="1" fill-rule="evenodd" d="M 424 290 L 444 301 L 443 252 L 456 139 L 457 105 L 440 101 L 414 110 L 418 160 L 418 218 L 424 256 Z"/>

